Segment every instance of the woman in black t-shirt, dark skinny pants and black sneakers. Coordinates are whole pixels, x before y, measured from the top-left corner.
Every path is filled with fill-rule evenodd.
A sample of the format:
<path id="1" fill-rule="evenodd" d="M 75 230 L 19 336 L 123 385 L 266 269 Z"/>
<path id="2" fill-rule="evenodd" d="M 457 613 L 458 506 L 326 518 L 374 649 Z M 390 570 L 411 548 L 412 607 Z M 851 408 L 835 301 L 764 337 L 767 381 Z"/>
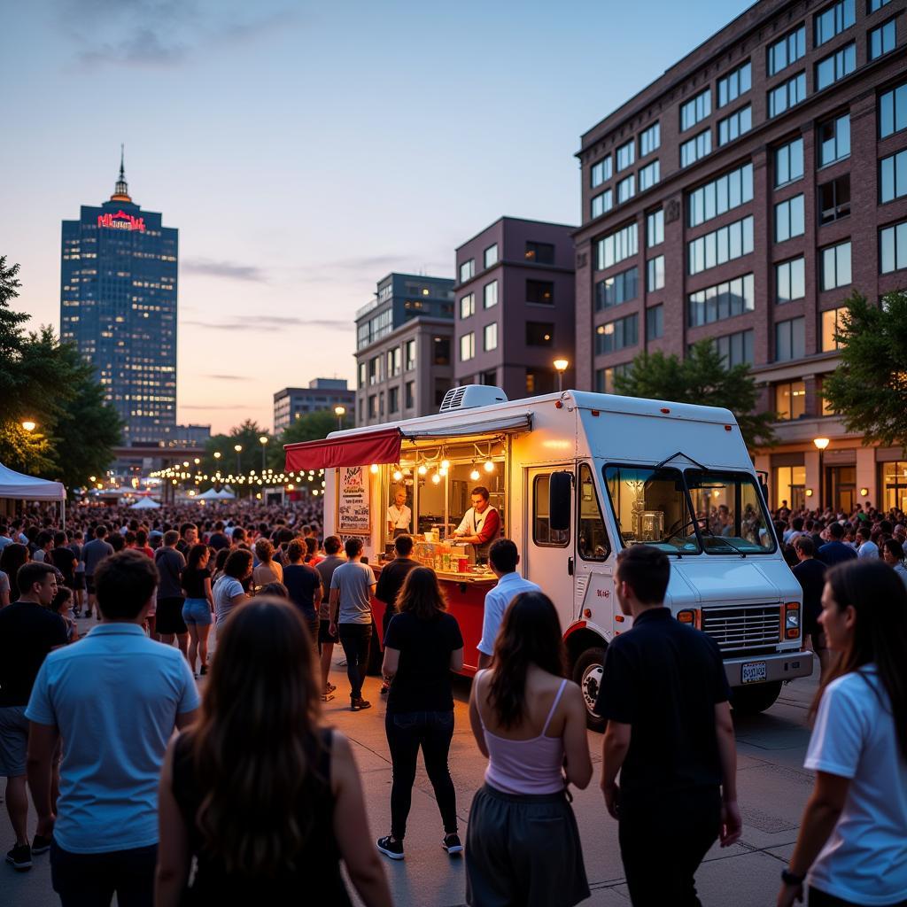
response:
<path id="1" fill-rule="evenodd" d="M 450 854 L 463 853 L 447 755 L 453 739 L 451 671 L 463 668 L 463 636 L 450 614 L 428 567 L 406 574 L 396 600 L 398 613 L 385 633 L 382 672 L 390 683 L 385 732 L 394 766 L 391 787 L 391 833 L 377 841 L 378 850 L 402 860 L 406 819 L 413 797 L 419 749 L 434 798 L 444 822 L 441 846 Z"/>

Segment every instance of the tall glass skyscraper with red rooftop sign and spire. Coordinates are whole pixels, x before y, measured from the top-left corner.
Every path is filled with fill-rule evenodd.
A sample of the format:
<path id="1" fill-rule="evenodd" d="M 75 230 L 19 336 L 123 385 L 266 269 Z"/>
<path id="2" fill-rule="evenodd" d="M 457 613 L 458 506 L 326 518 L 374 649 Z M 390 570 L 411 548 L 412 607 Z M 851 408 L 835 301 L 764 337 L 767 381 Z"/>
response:
<path id="1" fill-rule="evenodd" d="M 93 364 L 123 443 L 167 443 L 176 425 L 177 230 L 120 179 L 109 201 L 63 220 L 60 336 Z"/>

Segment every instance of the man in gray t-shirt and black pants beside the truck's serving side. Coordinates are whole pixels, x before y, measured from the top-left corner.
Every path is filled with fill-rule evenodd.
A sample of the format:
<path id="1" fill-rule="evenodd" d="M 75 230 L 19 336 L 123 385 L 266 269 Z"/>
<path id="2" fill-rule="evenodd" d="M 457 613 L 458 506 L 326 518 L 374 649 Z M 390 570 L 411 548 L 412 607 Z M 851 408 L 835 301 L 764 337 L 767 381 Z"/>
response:
<path id="1" fill-rule="evenodd" d="M 368 650 L 372 641 L 372 596 L 375 573 L 362 562 L 362 540 L 346 541 L 346 563 L 340 564 L 331 577 L 330 633 L 337 630 L 346 655 L 346 676 L 354 712 L 371 707 L 362 697 L 366 678 Z"/>

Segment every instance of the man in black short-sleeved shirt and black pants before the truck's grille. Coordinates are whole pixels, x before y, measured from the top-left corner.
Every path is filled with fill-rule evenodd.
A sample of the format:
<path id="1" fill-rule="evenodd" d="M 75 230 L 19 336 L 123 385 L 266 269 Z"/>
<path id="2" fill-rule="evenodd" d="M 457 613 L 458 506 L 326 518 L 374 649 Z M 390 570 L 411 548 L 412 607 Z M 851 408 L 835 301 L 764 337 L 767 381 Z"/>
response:
<path id="1" fill-rule="evenodd" d="M 663 551 L 619 553 L 614 587 L 633 627 L 608 647 L 596 704 L 608 719 L 601 788 L 637 907 L 698 905 L 694 874 L 708 848 L 719 834 L 723 847 L 740 837 L 721 653 L 664 607 L 669 577 Z"/>

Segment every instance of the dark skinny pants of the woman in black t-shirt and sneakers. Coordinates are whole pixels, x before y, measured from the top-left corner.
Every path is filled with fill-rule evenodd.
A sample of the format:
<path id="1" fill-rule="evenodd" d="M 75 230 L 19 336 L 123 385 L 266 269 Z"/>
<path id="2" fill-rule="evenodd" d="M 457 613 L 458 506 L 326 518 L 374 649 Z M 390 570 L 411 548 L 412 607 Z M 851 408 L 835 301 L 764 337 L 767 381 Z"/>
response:
<path id="1" fill-rule="evenodd" d="M 420 746 L 425 771 L 434 787 L 434 798 L 444 822 L 444 833 L 455 833 L 456 792 L 447 767 L 447 754 L 453 738 L 453 712 L 397 712 L 385 717 L 385 731 L 394 766 L 391 834 L 398 841 L 402 841 L 406 834 L 406 817 L 413 800 L 415 763 Z"/>

